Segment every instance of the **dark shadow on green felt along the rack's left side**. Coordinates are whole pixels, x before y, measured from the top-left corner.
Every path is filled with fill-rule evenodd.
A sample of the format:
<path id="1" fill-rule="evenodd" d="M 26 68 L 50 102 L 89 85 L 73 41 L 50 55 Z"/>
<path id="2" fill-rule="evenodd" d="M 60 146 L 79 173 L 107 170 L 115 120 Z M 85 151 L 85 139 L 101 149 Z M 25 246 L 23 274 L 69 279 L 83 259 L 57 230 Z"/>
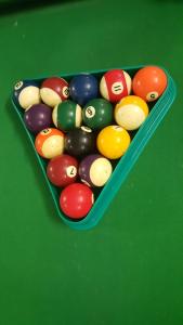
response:
<path id="1" fill-rule="evenodd" d="M 35 156 L 34 150 L 32 150 L 31 145 L 29 144 L 27 136 L 25 136 L 25 131 L 19 123 L 18 117 L 12 107 L 12 103 L 11 103 L 10 99 L 6 101 L 5 108 L 6 108 L 9 118 L 11 120 L 12 128 L 16 130 L 16 136 L 23 147 L 23 151 L 26 156 L 26 160 L 32 168 L 35 183 L 36 183 L 37 187 L 39 188 L 40 195 L 43 198 L 42 200 L 45 204 L 45 209 L 48 211 L 48 214 L 50 216 L 50 219 L 56 223 L 62 224 L 62 226 L 65 226 L 64 223 L 62 222 L 62 220 L 56 214 L 52 198 L 50 196 L 48 185 L 43 179 L 42 172 L 37 162 L 37 158 Z M 22 186 L 24 186 L 24 184 L 22 184 Z"/>

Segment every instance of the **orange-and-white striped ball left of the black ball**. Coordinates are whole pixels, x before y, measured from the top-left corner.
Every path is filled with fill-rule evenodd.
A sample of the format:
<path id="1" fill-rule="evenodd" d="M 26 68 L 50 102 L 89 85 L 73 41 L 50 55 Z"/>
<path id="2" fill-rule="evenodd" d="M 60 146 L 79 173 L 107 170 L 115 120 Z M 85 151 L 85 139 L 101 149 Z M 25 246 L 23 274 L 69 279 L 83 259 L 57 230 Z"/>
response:
<path id="1" fill-rule="evenodd" d="M 35 140 L 38 154 L 47 159 L 54 158 L 64 151 L 64 133 L 54 128 L 48 128 L 39 132 Z"/>

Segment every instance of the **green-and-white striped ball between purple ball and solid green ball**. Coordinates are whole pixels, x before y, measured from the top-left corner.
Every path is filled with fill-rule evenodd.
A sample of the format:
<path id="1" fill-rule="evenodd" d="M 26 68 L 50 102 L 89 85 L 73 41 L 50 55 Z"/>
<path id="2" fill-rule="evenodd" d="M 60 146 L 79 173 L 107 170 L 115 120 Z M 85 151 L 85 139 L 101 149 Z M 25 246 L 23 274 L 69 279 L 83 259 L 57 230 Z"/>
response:
<path id="1" fill-rule="evenodd" d="M 56 128 L 69 131 L 81 126 L 81 107 L 73 101 L 65 101 L 53 108 L 53 122 Z"/>

